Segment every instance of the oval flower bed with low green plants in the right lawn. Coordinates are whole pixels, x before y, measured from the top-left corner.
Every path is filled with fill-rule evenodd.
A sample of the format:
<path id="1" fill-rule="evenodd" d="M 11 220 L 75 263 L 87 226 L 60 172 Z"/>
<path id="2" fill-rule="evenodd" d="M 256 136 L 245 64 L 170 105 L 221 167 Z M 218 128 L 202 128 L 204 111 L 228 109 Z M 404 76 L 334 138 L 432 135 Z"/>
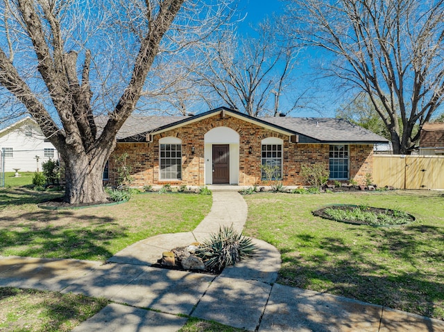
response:
<path id="1" fill-rule="evenodd" d="M 323 207 L 313 211 L 313 214 L 330 220 L 370 226 L 405 225 L 415 220 L 415 217 L 404 211 L 349 204 Z"/>

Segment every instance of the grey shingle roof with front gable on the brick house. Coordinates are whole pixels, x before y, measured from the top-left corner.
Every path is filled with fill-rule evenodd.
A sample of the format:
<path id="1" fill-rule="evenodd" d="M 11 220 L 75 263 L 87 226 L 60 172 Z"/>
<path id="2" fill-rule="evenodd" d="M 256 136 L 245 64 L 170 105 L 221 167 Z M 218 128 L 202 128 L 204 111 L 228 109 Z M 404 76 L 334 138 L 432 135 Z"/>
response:
<path id="1" fill-rule="evenodd" d="M 209 112 L 197 114 L 196 116 L 139 116 L 133 115 L 128 118 L 117 134 L 118 141 L 140 141 L 144 140 L 146 134 L 168 130 L 173 126 L 180 126 L 189 121 L 198 121 L 203 116 L 212 116 L 221 110 L 253 121 L 258 125 L 264 125 L 276 130 L 284 130 L 289 134 L 300 135 L 300 143 L 387 143 L 384 139 L 369 130 L 361 128 L 343 119 L 334 118 L 296 118 L 296 117 L 262 117 L 254 118 L 246 114 L 218 108 Z"/>

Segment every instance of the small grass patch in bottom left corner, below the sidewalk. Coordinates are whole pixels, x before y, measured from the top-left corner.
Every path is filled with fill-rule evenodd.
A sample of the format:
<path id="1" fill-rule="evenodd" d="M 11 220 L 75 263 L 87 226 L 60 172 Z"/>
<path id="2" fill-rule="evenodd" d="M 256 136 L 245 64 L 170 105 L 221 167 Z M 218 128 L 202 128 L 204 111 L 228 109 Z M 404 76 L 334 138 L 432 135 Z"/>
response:
<path id="1" fill-rule="evenodd" d="M 0 331 L 71 331 L 109 301 L 85 295 L 0 288 Z"/>

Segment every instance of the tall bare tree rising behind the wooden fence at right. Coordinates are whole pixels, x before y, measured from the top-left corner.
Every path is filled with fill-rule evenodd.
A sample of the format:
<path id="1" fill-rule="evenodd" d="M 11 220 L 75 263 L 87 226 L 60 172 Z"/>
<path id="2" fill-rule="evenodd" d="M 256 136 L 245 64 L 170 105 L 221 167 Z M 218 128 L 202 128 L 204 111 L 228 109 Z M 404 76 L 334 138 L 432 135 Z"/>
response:
<path id="1" fill-rule="evenodd" d="M 333 55 L 327 76 L 364 91 L 395 154 L 409 154 L 419 139 L 413 128 L 422 128 L 443 102 L 444 1 L 290 2 L 294 37 Z"/>

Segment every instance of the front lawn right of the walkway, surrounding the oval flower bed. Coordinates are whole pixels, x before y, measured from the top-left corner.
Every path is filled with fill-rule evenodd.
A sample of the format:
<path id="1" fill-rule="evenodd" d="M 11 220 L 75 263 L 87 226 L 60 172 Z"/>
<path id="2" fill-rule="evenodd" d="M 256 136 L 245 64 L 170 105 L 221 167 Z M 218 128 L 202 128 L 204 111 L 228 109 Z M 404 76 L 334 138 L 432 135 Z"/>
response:
<path id="1" fill-rule="evenodd" d="M 431 191 L 244 196 L 244 234 L 278 247 L 278 282 L 444 319 L 444 195 Z M 325 204 L 411 213 L 409 225 L 375 228 L 311 214 Z"/>

